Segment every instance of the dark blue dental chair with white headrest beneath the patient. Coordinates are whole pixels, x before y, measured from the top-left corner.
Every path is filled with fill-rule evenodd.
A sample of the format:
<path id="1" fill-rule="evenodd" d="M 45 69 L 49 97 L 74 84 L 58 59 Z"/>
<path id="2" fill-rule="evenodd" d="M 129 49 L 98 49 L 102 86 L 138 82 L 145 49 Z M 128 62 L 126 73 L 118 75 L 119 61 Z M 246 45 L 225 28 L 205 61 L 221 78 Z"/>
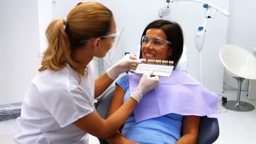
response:
<path id="1" fill-rule="evenodd" d="M 187 47 L 183 47 L 183 54 L 176 70 L 182 70 L 188 73 L 188 50 Z M 115 87 L 109 87 L 98 99 L 95 104 L 98 114 L 106 119 L 108 115 L 109 106 L 112 102 Z M 121 131 L 122 128 L 119 129 Z M 197 144 L 210 144 L 216 141 L 219 137 L 219 123 L 216 118 L 208 118 L 203 116 L 200 119 L 199 133 L 197 137 Z M 107 144 L 106 140 L 98 139 L 101 144 Z"/>

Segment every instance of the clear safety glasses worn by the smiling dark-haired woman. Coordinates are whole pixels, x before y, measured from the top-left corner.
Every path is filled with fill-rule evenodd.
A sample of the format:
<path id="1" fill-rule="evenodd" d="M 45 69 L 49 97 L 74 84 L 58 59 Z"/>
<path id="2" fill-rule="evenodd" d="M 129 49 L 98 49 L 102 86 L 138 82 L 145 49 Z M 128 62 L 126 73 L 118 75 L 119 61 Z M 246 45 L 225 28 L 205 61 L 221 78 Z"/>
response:
<path id="1" fill-rule="evenodd" d="M 146 35 L 144 35 L 141 39 L 142 45 L 147 45 L 148 43 L 151 43 L 153 47 L 165 47 L 165 44 L 171 45 L 172 43 L 170 41 L 160 39 L 160 38 L 149 38 Z"/>

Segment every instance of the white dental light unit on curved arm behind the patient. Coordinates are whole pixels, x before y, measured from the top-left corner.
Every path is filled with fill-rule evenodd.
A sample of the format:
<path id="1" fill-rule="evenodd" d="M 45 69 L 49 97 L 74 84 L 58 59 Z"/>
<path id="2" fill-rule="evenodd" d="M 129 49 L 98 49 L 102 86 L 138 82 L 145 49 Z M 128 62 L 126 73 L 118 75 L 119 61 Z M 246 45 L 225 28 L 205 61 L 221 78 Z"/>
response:
<path id="1" fill-rule="evenodd" d="M 207 3 L 207 2 L 203 2 L 203 1 L 198 1 L 198 0 L 166 0 L 167 2 L 167 6 L 159 9 L 158 11 L 158 16 L 159 17 L 165 17 L 168 14 L 170 14 L 170 3 L 173 2 L 178 2 L 178 1 L 192 1 L 192 2 L 197 2 L 197 3 L 202 3 L 203 4 L 203 8 L 206 9 L 206 14 L 204 16 L 203 22 L 201 23 L 201 25 L 199 25 L 199 27 L 197 27 L 197 32 L 195 35 L 195 46 L 196 49 L 199 51 L 199 67 L 200 67 L 200 81 L 203 84 L 203 76 L 202 76 L 202 47 L 203 47 L 203 42 L 205 41 L 205 33 L 206 33 L 206 27 L 207 27 L 207 21 L 208 19 L 213 19 L 214 16 L 210 16 L 210 12 L 211 12 L 211 8 L 216 9 L 216 11 L 219 11 L 221 14 L 225 15 L 225 16 L 230 16 L 230 13 L 224 9 L 220 9 L 218 8 L 216 5 Z"/>

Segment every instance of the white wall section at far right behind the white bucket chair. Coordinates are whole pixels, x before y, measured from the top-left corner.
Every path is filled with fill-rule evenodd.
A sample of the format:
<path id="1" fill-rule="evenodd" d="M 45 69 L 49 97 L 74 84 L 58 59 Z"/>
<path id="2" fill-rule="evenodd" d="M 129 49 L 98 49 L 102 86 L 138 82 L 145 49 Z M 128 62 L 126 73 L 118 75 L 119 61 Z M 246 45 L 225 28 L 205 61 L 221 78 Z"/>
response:
<path id="1" fill-rule="evenodd" d="M 228 28 L 228 44 L 241 46 L 253 53 L 253 47 L 256 46 L 256 11 L 255 0 L 230 1 L 230 19 Z M 255 71 L 256 73 L 256 71 Z M 237 88 L 237 81 L 224 74 L 224 82 L 229 86 Z M 229 87 L 227 87 L 229 88 Z M 248 80 L 243 81 L 242 89 L 248 89 Z"/>

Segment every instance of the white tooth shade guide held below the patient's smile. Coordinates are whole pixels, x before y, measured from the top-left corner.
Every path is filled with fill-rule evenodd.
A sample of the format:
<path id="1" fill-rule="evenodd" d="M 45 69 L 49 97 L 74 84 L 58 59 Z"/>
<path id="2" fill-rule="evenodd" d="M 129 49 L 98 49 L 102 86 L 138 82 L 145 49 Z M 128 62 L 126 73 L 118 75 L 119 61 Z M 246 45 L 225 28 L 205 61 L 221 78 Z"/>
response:
<path id="1" fill-rule="evenodd" d="M 138 64 L 137 69 L 133 72 L 137 74 L 149 73 L 151 69 L 154 70 L 153 75 L 171 76 L 173 70 L 173 61 L 164 61 L 158 59 L 141 58 L 142 63 Z"/>

